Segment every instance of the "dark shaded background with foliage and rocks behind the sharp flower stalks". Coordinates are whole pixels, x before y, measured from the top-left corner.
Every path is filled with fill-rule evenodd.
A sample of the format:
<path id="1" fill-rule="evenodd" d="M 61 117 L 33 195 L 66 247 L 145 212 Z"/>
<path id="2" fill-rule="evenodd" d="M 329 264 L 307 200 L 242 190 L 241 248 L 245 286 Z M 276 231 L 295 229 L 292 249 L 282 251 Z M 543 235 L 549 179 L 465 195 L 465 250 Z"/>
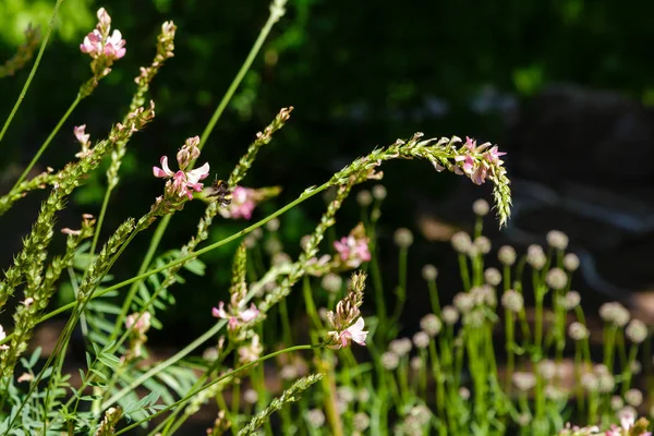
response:
<path id="1" fill-rule="evenodd" d="M 1 59 L 12 56 L 28 21 L 47 23 L 53 3 L 0 0 Z M 128 53 L 80 105 L 40 159 L 39 170 L 59 169 L 72 158 L 77 150 L 74 125 L 86 123 L 92 140 L 105 136 L 128 108 L 138 66 L 149 64 L 155 53 L 160 24 L 173 20 L 178 25 L 175 57 L 150 88 L 157 118 L 130 144 L 104 226 L 108 234 L 126 217 L 143 215 L 159 195 L 161 183 L 152 177 L 152 166 L 164 154 L 172 156 L 186 137 L 202 133 L 265 23 L 268 2 L 66 0 L 35 81 L 0 144 L 4 190 L 89 76 L 89 58 L 78 44 L 95 25 L 99 7 L 122 32 Z M 582 262 L 592 261 L 579 286 L 596 304 L 644 291 L 654 281 L 649 272 L 654 3 L 291 0 L 287 9 L 203 153 L 211 172 L 227 177 L 279 108 L 295 107 L 244 181 L 284 189 L 255 219 L 375 146 L 416 131 L 469 135 L 509 152 L 516 218 L 501 235 L 492 231 L 496 246 L 511 242 L 521 249 L 543 242 L 552 228 L 565 230 Z M 0 81 L 0 114 L 10 112 L 28 68 Z M 380 247 L 388 280 L 395 280 L 392 231 L 403 226 L 416 233 L 410 269 L 420 294 L 410 294 L 409 304 L 426 298 L 419 272 L 426 262 L 441 269 L 445 292 L 457 292 L 458 274 L 446 244 L 434 242 L 439 235 L 421 233 L 419 223 L 428 217 L 446 228 L 467 229 L 471 202 L 491 199 L 488 190 L 436 174 L 428 162 L 391 162 L 384 171 L 389 196 Z M 104 184 L 104 171 L 96 172 L 62 214 L 61 227 L 75 227 L 82 213 L 97 214 Z M 8 238 L 5 247 L 11 250 L 3 253 L 3 265 L 20 250 L 17 237 L 28 231 L 40 198 L 40 193 L 31 194 L 3 217 L 8 234 L 16 235 Z M 282 238 L 291 254 L 323 209 L 324 203 L 314 198 L 282 217 Z M 198 202 L 178 214 L 162 249 L 185 243 L 202 210 Z M 338 233 L 352 228 L 358 217 L 352 199 Z M 211 241 L 243 226 L 218 221 Z M 489 219 L 488 228 L 495 229 L 496 222 Z M 135 272 L 150 234 L 140 235 L 130 247 L 113 269 L 118 278 Z M 213 323 L 210 306 L 225 299 L 234 247 L 204 257 L 213 280 L 191 278 L 189 292 L 178 293 L 180 304 L 165 315 L 172 331 L 184 326 L 185 335 L 196 334 Z M 597 274 L 598 281 L 593 281 Z M 177 340 L 183 343 L 187 336 Z"/>

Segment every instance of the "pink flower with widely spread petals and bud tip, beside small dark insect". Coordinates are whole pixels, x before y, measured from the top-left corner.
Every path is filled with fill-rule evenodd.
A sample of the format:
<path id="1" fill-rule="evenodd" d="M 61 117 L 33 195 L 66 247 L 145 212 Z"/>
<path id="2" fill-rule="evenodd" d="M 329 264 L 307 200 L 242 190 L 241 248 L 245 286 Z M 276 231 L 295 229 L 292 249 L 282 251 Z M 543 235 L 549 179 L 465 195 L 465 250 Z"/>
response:
<path id="1" fill-rule="evenodd" d="M 201 180 L 209 175 L 209 164 L 186 171 L 186 168 L 199 156 L 199 137 L 194 136 L 186 140 L 184 146 L 177 154 L 180 169 L 174 172 L 168 167 L 168 157 L 161 157 L 161 168 L 153 167 L 153 173 L 157 178 L 167 179 L 164 196 L 157 198 L 158 204 L 164 204 L 165 213 L 182 209 L 186 199 L 193 198 L 193 192 L 203 189 Z"/>

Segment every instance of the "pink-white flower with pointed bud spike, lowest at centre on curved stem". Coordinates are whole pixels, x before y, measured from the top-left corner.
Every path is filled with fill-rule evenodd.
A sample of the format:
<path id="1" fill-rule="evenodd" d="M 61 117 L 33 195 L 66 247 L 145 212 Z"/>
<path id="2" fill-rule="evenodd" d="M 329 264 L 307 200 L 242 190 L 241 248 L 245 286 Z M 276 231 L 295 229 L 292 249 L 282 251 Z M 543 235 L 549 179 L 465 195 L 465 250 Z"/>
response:
<path id="1" fill-rule="evenodd" d="M 365 346 L 368 332 L 364 331 L 364 320 L 359 311 L 363 303 L 365 278 L 364 272 L 354 272 L 348 295 L 338 302 L 336 312 L 327 313 L 327 319 L 334 328 L 327 334 L 327 347 L 338 350 L 348 347 L 351 341 Z"/>

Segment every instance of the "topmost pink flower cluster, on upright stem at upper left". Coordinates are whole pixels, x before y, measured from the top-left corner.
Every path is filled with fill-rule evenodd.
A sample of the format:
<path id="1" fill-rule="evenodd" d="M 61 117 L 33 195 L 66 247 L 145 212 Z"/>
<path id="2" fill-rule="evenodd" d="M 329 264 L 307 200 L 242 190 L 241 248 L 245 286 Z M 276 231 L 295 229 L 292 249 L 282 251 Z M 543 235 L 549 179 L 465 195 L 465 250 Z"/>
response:
<path id="1" fill-rule="evenodd" d="M 125 40 L 118 29 L 111 33 L 111 16 L 105 8 L 98 9 L 98 24 L 92 33 L 84 37 L 80 45 L 83 53 L 88 53 L 93 58 L 90 70 L 93 78 L 89 83 L 83 85 L 81 94 L 87 96 L 97 86 L 97 82 L 111 72 L 113 61 L 125 56 Z"/>

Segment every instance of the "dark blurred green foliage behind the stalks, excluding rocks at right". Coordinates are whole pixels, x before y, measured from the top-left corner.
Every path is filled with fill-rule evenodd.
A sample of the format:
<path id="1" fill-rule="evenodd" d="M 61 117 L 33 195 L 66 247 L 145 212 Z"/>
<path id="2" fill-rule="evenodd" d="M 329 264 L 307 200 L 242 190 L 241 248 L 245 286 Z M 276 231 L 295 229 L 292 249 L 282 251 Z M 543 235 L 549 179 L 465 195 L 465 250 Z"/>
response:
<path id="1" fill-rule="evenodd" d="M 0 0 L 0 59 L 12 56 L 28 22 L 45 31 L 53 3 Z M 41 159 L 44 166 L 60 168 L 73 156 L 74 125 L 86 123 L 92 138 L 106 134 L 129 105 L 138 66 L 155 53 L 160 24 L 173 20 L 178 25 L 175 57 L 150 89 L 157 120 L 130 145 L 105 223 L 109 230 L 128 216 L 141 216 L 159 194 L 161 184 L 152 178 L 152 166 L 161 155 L 175 153 L 185 137 L 202 132 L 265 23 L 268 1 L 65 0 L 55 37 L 2 143 L 4 174 L 28 161 L 88 77 L 89 58 L 80 52 L 78 43 L 93 28 L 99 7 L 122 32 L 128 55 L 80 105 Z M 291 122 L 262 152 L 244 181 L 282 185 L 275 203 L 279 206 L 358 155 L 415 131 L 471 135 L 501 145 L 514 104 L 552 83 L 619 89 L 651 105 L 652 16 L 651 1 L 290 0 L 287 15 L 274 28 L 203 156 L 211 172 L 227 175 L 279 108 L 294 106 Z M 27 74 L 0 81 L 0 118 L 11 110 Z M 412 227 L 421 196 L 437 198 L 451 181 L 434 177 L 428 164 L 412 164 L 410 169 L 393 164 L 385 173 L 387 234 L 396 226 Z M 104 185 L 99 171 L 78 191 L 73 218 L 62 217 L 62 225 L 78 213 L 97 213 Z M 314 201 L 283 217 L 282 229 L 291 229 L 284 230 L 284 243 L 295 247 L 323 206 Z M 264 211 L 274 208 L 266 207 Z M 202 209 L 201 204 L 189 205 L 173 218 L 162 250 L 187 240 Z M 355 208 L 346 209 L 338 231 L 347 232 L 356 218 Z M 213 239 L 243 226 L 217 223 Z M 142 240 L 135 246 L 146 245 Z M 142 254 L 133 250 L 118 268 L 133 270 Z M 232 251 L 226 247 L 208 262 L 227 271 Z M 222 292 L 220 281 L 217 289 Z M 195 304 L 218 299 L 215 292 L 203 295 Z"/>

